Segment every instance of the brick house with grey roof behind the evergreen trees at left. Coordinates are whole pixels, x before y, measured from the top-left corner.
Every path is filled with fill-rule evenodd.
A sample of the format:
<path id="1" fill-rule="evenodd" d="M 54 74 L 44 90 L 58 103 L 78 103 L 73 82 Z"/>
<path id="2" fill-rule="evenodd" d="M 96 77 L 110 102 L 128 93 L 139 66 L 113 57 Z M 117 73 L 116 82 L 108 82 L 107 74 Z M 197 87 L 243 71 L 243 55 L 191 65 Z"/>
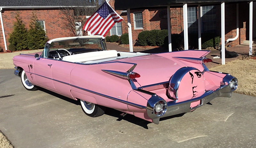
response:
<path id="1" fill-rule="evenodd" d="M 50 3 L 49 3 L 50 2 Z M 12 33 L 13 23 L 16 21 L 16 12 L 19 12 L 22 21 L 26 27 L 29 27 L 32 12 L 35 12 L 38 22 L 45 30 L 49 39 L 70 36 L 70 32 L 61 28 L 61 7 L 94 7 L 92 4 L 83 0 L 51 0 L 51 1 L 27 1 L 19 0 L 15 3 L 11 0 L 0 1 L 0 47 L 5 48 L 4 35 L 6 45 L 8 46 L 8 38 Z M 3 24 L 3 26 L 2 26 Z M 4 33 L 3 33 L 4 30 Z"/>

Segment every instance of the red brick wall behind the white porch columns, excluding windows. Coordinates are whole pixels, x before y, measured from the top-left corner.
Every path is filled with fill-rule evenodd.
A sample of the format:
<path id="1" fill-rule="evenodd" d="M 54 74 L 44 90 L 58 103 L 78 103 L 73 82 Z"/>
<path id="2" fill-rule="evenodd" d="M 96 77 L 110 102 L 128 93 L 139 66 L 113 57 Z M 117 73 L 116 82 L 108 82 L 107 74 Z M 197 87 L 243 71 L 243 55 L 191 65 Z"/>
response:
<path id="1" fill-rule="evenodd" d="M 114 7 L 114 0 L 110 0 L 111 6 Z M 246 21 L 247 10 L 249 5 L 246 3 L 239 4 L 239 36 L 235 41 L 229 42 L 231 46 L 236 46 L 243 43 L 246 40 Z M 221 7 L 216 5 L 216 33 L 221 35 Z M 136 39 L 139 33 L 143 30 L 153 29 L 167 29 L 167 18 L 160 18 L 159 13 L 166 11 L 166 9 L 143 9 L 143 10 L 131 10 L 131 24 L 132 24 L 132 41 L 136 43 Z M 201 10 L 202 11 L 202 10 Z M 133 12 L 142 12 L 143 17 L 143 29 L 134 29 Z M 242 13 L 243 12 L 243 13 Z M 127 22 L 127 14 L 117 11 L 124 18 L 124 22 Z M 171 8 L 171 31 L 172 34 L 183 33 L 183 8 Z M 122 22 L 123 33 L 128 33 L 128 27 Z M 236 4 L 225 5 L 225 41 L 229 38 L 236 36 Z M 110 35 L 110 34 L 109 34 Z"/>

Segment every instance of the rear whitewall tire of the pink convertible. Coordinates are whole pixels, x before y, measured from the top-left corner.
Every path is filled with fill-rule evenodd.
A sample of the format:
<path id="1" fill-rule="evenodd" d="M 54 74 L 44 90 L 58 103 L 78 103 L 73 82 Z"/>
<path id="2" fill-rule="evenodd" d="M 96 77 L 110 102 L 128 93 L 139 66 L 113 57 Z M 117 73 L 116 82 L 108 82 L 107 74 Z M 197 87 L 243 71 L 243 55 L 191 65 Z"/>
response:
<path id="1" fill-rule="evenodd" d="M 98 117 L 105 113 L 106 107 L 86 102 L 80 99 L 81 107 L 84 113 L 90 117 Z"/>

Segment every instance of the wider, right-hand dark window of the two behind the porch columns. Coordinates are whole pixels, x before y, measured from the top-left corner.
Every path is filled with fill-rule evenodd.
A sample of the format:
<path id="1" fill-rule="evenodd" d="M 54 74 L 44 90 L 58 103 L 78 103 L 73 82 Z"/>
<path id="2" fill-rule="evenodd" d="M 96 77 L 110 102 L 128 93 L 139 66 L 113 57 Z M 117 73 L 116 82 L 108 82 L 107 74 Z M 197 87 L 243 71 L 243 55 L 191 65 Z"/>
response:
<path id="1" fill-rule="evenodd" d="M 214 6 L 202 7 L 202 32 L 216 31 L 216 8 Z"/>

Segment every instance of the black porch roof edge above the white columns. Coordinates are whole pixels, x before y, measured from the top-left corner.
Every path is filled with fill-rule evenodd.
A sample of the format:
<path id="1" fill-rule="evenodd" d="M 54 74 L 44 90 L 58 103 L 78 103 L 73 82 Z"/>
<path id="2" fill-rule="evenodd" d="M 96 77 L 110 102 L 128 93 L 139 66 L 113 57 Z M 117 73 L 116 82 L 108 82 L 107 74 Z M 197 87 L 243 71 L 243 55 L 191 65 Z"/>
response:
<path id="1" fill-rule="evenodd" d="M 221 2 L 245 2 L 248 0 L 115 0 L 115 10 L 138 9 L 145 7 L 161 7 L 168 5 L 182 6 L 188 4 L 212 4 Z M 255 1 L 255 0 L 253 0 Z M 249 2 L 249 1 L 248 1 Z"/>

